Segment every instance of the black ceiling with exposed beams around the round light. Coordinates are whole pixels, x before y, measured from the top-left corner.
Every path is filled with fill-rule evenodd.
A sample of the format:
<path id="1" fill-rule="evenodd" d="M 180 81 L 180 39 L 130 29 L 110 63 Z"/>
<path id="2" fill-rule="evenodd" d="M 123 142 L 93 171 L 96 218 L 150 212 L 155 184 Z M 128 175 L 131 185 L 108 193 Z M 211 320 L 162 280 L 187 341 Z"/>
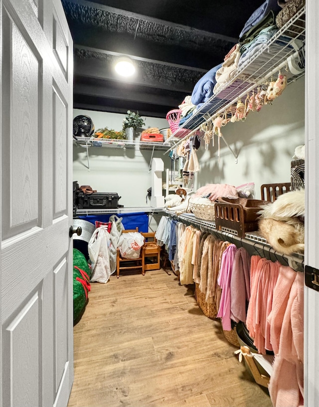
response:
<path id="1" fill-rule="evenodd" d="M 165 117 L 221 63 L 264 1 L 62 0 L 74 42 L 74 108 Z M 138 73 L 120 79 L 129 55 Z"/>

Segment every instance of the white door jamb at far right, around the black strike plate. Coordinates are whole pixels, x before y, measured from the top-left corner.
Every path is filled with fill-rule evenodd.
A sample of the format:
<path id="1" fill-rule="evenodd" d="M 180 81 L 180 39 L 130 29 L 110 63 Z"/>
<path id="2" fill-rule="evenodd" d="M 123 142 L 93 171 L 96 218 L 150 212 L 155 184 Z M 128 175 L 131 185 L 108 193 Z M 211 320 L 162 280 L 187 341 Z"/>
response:
<path id="1" fill-rule="evenodd" d="M 319 2 L 308 0 L 306 7 L 305 264 L 319 269 Z M 305 406 L 308 407 L 319 405 L 318 344 L 319 292 L 305 287 Z"/>

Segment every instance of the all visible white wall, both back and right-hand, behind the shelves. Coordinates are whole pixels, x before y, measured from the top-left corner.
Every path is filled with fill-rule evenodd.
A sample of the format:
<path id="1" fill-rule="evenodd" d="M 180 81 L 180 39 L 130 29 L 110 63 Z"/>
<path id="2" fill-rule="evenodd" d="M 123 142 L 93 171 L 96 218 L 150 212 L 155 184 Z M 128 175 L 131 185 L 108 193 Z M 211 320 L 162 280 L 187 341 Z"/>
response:
<path id="1" fill-rule="evenodd" d="M 290 163 L 295 148 L 304 144 L 305 101 L 304 78 L 290 84 L 272 105 L 260 112 L 251 112 L 245 122 L 228 123 L 222 133 L 233 150 L 238 153 L 238 164 L 221 140 L 220 163 L 217 159 L 217 142 L 198 150 L 200 172 L 195 174 L 194 190 L 211 184 L 239 186 L 255 183 L 255 198 L 260 199 L 260 186 L 276 182 L 290 182 Z M 121 130 L 124 115 L 95 111 L 74 110 L 74 117 L 87 114 L 95 128 L 106 127 Z M 165 119 L 146 118 L 146 128 L 165 128 Z M 87 169 L 86 151 L 75 147 L 73 152 L 73 180 L 80 185 L 91 185 L 99 192 L 117 192 L 124 206 L 145 206 L 147 189 L 151 186 L 149 164 L 150 151 L 118 150 L 107 148 L 89 149 L 90 172 Z M 154 157 L 170 168 L 170 159 L 163 152 Z M 165 173 L 162 174 L 165 182 Z M 149 204 L 149 201 L 148 201 Z"/>

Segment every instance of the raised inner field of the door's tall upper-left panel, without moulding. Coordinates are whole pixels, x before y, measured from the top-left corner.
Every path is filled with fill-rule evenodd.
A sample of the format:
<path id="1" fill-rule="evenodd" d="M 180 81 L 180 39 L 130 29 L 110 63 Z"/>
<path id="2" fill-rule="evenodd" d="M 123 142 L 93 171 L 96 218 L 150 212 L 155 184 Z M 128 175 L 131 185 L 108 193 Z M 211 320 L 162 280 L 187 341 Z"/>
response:
<path id="1" fill-rule="evenodd" d="M 10 185 L 7 191 L 11 201 L 10 229 L 24 224 L 21 232 L 38 219 L 38 166 L 41 159 L 38 154 L 39 62 L 14 23 L 11 50 L 11 112 L 6 119 L 11 119 L 10 134 L 13 137 L 8 157 Z"/>

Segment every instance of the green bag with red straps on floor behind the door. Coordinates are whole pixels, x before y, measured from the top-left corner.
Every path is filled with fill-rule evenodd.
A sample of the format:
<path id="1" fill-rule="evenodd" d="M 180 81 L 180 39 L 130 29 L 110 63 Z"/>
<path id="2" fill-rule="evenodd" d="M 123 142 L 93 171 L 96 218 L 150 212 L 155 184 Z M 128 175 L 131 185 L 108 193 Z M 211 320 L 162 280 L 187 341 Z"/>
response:
<path id="1" fill-rule="evenodd" d="M 82 314 L 87 303 L 88 292 L 91 290 L 90 275 L 91 269 L 84 254 L 73 249 L 73 322 Z"/>

